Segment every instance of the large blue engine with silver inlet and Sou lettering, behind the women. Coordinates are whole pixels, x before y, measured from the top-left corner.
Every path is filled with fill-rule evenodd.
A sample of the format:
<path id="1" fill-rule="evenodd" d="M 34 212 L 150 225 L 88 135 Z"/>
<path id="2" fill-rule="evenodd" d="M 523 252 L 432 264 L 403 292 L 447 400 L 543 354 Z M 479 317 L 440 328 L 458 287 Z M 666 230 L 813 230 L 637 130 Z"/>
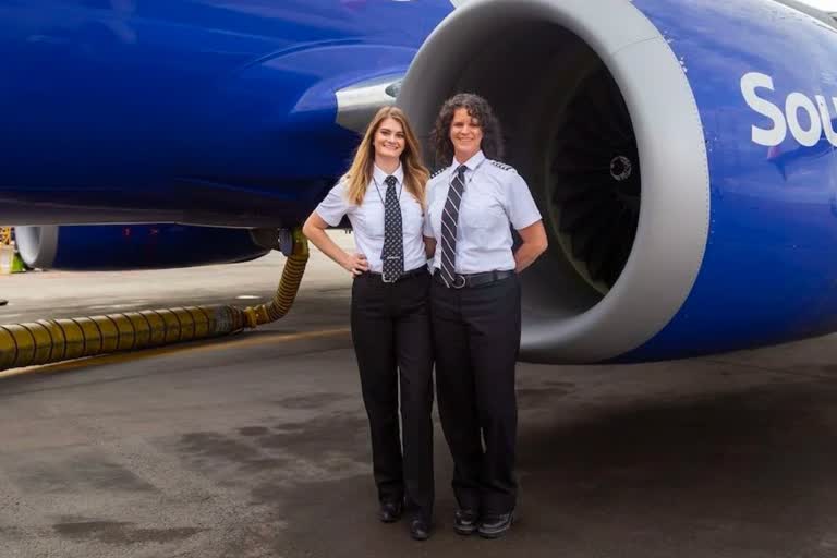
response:
<path id="1" fill-rule="evenodd" d="M 502 123 L 550 240 L 524 360 L 664 360 L 837 329 L 836 59 L 769 0 L 474 1 L 398 102 L 425 138 L 458 92 Z"/>

